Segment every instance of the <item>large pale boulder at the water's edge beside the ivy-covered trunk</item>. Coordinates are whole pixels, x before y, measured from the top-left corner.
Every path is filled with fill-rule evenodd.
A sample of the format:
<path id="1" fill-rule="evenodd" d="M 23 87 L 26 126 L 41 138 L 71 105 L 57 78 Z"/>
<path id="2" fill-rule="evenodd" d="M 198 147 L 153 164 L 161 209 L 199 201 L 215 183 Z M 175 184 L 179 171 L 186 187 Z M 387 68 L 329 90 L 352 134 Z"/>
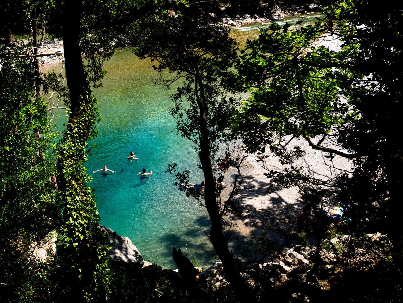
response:
<path id="1" fill-rule="evenodd" d="M 114 230 L 111 230 L 106 226 L 100 225 L 100 228 L 104 230 L 106 237 L 110 241 L 110 244 L 112 244 L 112 247 L 108 252 L 110 260 L 135 263 L 137 265 L 135 267 L 138 269 L 143 267 L 143 257 L 141 257 L 139 250 L 129 238 L 119 236 Z"/>

